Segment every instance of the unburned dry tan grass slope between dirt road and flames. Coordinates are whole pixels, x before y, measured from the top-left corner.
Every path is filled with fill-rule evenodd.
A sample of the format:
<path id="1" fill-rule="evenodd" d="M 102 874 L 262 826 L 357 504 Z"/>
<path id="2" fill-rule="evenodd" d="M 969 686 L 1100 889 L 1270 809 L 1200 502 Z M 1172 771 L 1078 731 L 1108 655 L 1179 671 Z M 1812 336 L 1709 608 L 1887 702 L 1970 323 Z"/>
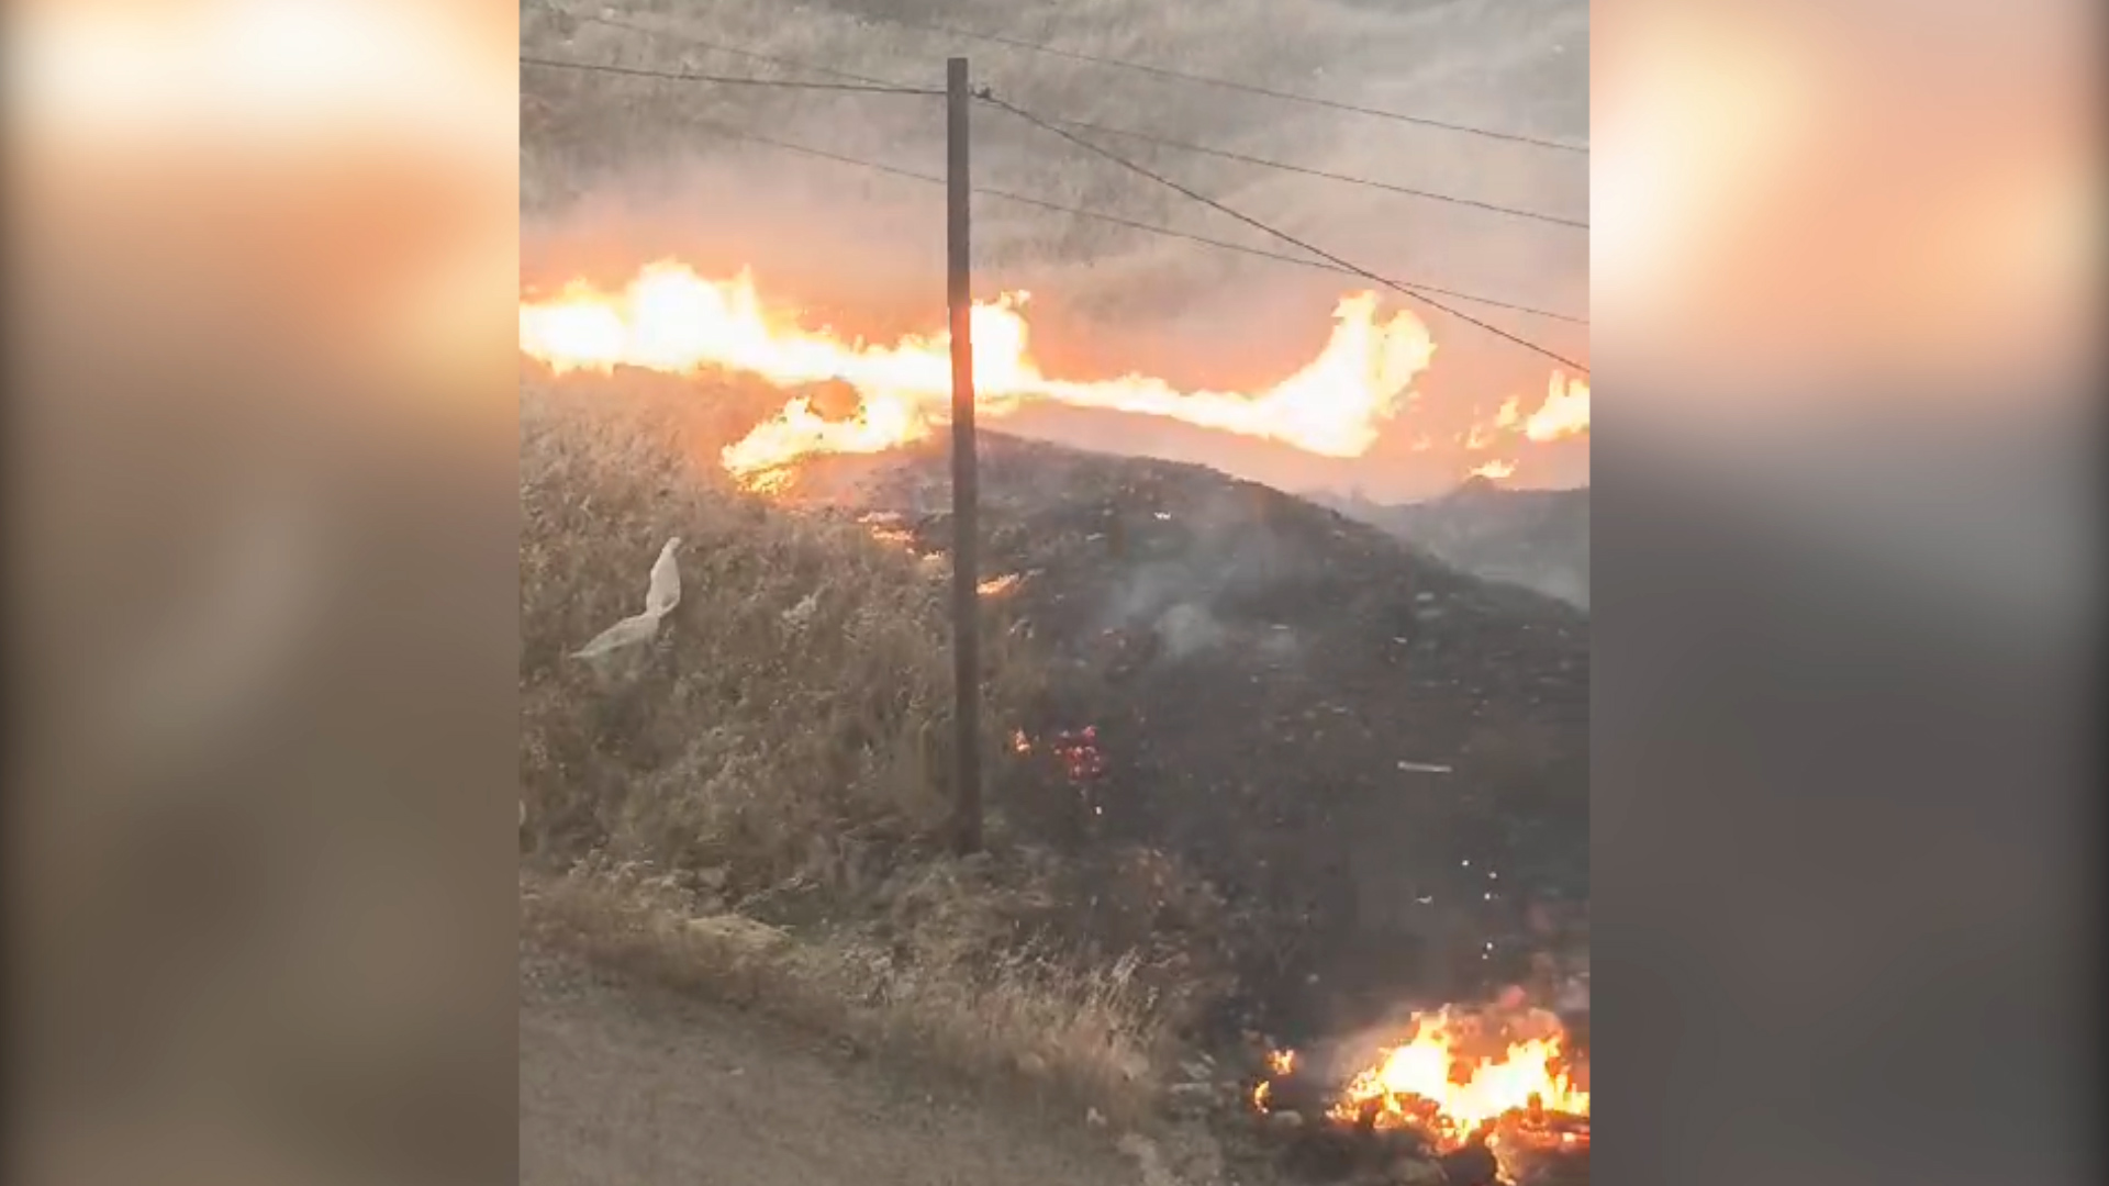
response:
<path id="1" fill-rule="evenodd" d="M 1139 1114 L 1213 990 L 1192 956 L 1152 945 L 1154 920 L 1204 912 L 1206 895 L 1152 853 L 1057 859 L 1000 804 L 987 855 L 945 855 L 943 563 L 725 487 L 698 395 L 643 376 L 523 388 L 529 929 Z M 660 637 L 616 669 L 567 658 L 635 612 L 666 536 L 685 540 L 683 599 Z M 1038 682 L 1033 656 L 989 633 L 1002 753 Z M 1086 920 L 1086 880 L 1139 907 Z"/>

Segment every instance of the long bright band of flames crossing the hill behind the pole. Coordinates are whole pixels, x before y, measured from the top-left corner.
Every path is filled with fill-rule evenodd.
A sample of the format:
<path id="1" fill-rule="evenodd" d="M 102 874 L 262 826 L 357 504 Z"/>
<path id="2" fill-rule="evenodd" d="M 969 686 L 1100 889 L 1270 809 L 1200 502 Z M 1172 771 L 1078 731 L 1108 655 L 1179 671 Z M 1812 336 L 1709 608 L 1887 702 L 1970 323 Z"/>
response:
<path id="1" fill-rule="evenodd" d="M 1160 378 L 1076 382 L 1040 374 L 1029 352 L 1025 293 L 976 304 L 976 412 L 1004 416 L 1029 401 L 1166 416 L 1202 428 L 1265 437 L 1352 458 L 1377 439 L 1377 426 L 1411 401 L 1434 340 L 1411 312 L 1377 321 L 1377 298 L 1352 293 L 1333 310 L 1333 336 L 1301 371 L 1259 393 L 1177 390 Z M 574 281 L 555 300 L 521 304 L 521 350 L 553 369 L 658 371 L 725 367 L 780 386 L 839 380 L 858 393 L 856 414 L 827 420 L 806 399 L 725 447 L 723 464 L 759 481 L 810 454 L 871 454 L 926 437 L 949 418 L 951 359 L 945 333 L 909 336 L 892 346 L 804 329 L 763 310 L 749 272 L 709 281 L 662 262 L 622 293 Z"/>

